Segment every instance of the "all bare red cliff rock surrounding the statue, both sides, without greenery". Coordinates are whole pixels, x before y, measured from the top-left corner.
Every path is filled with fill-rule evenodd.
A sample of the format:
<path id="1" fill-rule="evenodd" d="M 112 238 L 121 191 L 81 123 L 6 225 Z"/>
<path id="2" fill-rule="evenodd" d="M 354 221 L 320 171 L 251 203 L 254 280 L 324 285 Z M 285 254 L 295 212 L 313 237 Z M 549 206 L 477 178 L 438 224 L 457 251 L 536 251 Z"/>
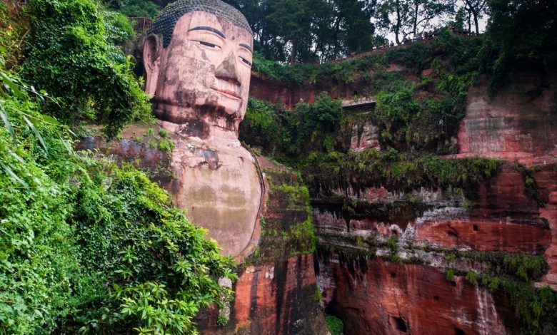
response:
<path id="1" fill-rule="evenodd" d="M 209 309 L 199 315 L 201 333 L 326 334 L 316 301 L 322 295 L 321 306 L 344 321 L 346 334 L 519 334 L 528 318 L 552 334 L 554 320 L 531 314 L 539 302 L 531 282 L 557 287 L 554 82 L 543 71 L 522 72 L 493 98 L 484 83 L 469 90 L 466 116 L 451 140 L 458 154 L 446 158 L 483 155 L 503 164 L 463 189 L 401 191 L 347 175 L 342 186 L 312 194 L 309 210 L 298 177 L 259 157 L 267 199 L 257 248 L 239 268 L 228 324 L 216 326 L 222 311 Z M 357 81 L 252 83 L 252 96 L 288 105 L 321 91 L 348 98 L 362 89 Z M 381 150 L 366 115 L 343 126 L 346 148 Z M 81 146 L 139 164 L 172 190 L 171 159 L 160 139 L 136 140 L 145 131 Z"/>

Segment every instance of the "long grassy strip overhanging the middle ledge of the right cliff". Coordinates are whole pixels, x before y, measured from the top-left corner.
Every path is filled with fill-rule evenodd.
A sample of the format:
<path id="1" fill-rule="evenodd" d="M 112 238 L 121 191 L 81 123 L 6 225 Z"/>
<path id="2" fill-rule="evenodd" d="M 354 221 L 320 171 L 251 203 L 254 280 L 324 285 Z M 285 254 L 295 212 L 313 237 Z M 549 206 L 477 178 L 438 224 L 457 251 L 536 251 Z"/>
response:
<path id="1" fill-rule="evenodd" d="M 394 149 L 370 149 L 363 153 L 312 153 L 300 168 L 311 190 L 317 192 L 346 186 L 353 180 L 389 190 L 416 190 L 422 186 L 466 188 L 496 174 L 500 166 L 497 160 L 487 158 L 443 159 Z"/>

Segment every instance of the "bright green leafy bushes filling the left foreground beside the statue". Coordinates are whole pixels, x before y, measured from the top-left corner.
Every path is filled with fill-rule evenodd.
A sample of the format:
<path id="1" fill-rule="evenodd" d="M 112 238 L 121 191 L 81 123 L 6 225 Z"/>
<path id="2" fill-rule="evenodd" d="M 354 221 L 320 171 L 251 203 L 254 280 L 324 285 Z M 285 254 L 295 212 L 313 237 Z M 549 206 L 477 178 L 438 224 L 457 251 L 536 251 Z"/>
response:
<path id="1" fill-rule="evenodd" d="M 143 172 L 72 148 L 75 120 L 89 115 L 113 133 L 144 113 L 139 83 L 103 34 L 109 15 L 89 0 L 28 6 L 21 68 L 40 86 L 16 72 L 24 31 L 0 34 L 0 329 L 194 333 L 202 306 L 231 297 L 217 279 L 234 279 L 234 262 Z M 21 19 L 13 9 L 1 6 L 2 25 Z"/>

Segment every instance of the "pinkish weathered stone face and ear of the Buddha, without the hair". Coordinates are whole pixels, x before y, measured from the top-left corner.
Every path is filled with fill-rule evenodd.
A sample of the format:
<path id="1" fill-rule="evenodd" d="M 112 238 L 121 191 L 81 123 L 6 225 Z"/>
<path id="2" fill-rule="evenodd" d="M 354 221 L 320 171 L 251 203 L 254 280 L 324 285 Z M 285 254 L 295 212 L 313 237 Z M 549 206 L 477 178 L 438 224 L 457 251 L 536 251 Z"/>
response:
<path id="1" fill-rule="evenodd" d="M 156 38 L 147 38 L 144 61 L 146 91 L 154 94 L 159 117 L 175 123 L 210 118 L 209 123 L 237 128 L 249 96 L 251 33 L 214 14 L 191 11 L 176 22 L 167 48 Z"/>

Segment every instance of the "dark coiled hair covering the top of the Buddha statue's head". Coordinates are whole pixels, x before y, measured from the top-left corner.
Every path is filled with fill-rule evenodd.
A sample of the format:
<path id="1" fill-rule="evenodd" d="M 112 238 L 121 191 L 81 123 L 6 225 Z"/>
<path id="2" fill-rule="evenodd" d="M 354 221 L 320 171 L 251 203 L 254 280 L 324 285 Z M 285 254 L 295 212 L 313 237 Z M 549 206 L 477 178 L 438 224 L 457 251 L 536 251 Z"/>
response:
<path id="1" fill-rule="evenodd" d="M 220 16 L 230 21 L 234 26 L 246 29 L 252 35 L 254 34 L 244 14 L 241 14 L 238 9 L 221 0 L 178 0 L 169 4 L 161 11 L 161 14 L 156 17 L 151 28 L 147 30 L 147 35 L 160 33 L 163 36 L 163 46 L 166 48 L 170 44 L 176 21 L 190 11 L 204 11 Z"/>

